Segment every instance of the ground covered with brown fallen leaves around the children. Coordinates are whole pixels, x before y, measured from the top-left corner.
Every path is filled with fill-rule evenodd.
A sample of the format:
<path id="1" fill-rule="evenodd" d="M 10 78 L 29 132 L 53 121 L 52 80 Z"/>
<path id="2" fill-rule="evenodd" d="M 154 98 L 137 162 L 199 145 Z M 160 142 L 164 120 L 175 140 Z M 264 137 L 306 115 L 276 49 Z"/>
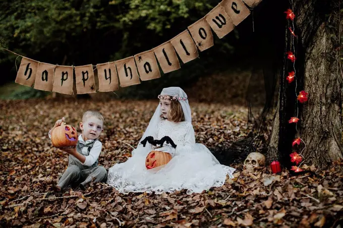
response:
<path id="1" fill-rule="evenodd" d="M 196 140 L 228 146 L 245 136 L 245 107 L 192 102 Z M 246 174 L 202 194 L 123 195 L 106 184 L 55 193 L 68 164 L 47 136 L 62 117 L 78 128 L 83 111 L 105 118 L 99 162 L 106 168 L 131 156 L 157 101 L 54 99 L 0 101 L 0 225 L 32 227 L 336 227 L 343 215 L 343 163 L 290 177 Z M 191 161 L 190 161 L 191 162 Z"/>

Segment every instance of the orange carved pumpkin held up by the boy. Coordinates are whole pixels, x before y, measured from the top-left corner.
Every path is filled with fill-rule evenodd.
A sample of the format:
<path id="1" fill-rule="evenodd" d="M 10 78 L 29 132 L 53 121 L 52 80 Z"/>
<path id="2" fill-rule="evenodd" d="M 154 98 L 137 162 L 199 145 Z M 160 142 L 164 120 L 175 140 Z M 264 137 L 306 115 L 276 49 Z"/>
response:
<path id="1" fill-rule="evenodd" d="M 57 148 L 76 146 L 77 139 L 77 131 L 71 125 L 63 124 L 51 132 L 52 145 Z"/>

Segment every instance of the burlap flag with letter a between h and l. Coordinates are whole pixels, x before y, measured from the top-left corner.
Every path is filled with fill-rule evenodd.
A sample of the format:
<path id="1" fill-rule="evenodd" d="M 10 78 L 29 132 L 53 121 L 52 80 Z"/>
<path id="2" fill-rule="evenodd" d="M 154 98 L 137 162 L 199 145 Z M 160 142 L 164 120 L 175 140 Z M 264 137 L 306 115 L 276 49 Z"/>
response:
<path id="1" fill-rule="evenodd" d="M 161 77 L 153 50 L 144 51 L 134 57 L 142 81 Z"/>

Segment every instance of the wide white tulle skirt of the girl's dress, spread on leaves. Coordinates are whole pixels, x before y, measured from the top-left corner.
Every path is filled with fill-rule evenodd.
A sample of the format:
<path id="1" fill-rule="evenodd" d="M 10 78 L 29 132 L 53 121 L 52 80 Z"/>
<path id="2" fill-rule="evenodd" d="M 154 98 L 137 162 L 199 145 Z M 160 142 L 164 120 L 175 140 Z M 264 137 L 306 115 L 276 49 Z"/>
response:
<path id="1" fill-rule="evenodd" d="M 147 169 L 147 152 L 135 149 L 133 156 L 108 170 L 107 183 L 119 192 L 174 192 L 201 193 L 211 187 L 221 187 L 226 175 L 233 178 L 235 169 L 219 164 L 202 144 L 195 144 L 188 152 L 179 152 L 162 168 Z"/>

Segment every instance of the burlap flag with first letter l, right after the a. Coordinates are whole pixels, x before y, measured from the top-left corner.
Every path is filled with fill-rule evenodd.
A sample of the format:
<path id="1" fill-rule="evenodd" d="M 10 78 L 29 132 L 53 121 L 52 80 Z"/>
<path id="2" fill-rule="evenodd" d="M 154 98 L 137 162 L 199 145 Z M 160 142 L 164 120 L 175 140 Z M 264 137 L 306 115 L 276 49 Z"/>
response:
<path id="1" fill-rule="evenodd" d="M 153 51 L 164 74 L 180 69 L 178 56 L 170 41 L 155 47 Z"/>

